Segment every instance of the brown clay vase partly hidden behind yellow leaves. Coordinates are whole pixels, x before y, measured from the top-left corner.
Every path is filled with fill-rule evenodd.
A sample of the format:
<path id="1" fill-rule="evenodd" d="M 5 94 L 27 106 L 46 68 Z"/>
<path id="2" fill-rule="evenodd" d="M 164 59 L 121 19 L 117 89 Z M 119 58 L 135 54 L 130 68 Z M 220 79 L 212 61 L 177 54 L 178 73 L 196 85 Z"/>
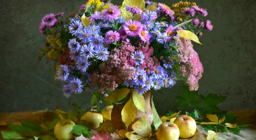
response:
<path id="1" fill-rule="evenodd" d="M 133 94 L 132 90 L 129 92 L 126 101 L 124 101 L 122 104 L 114 104 L 114 106 L 113 106 L 112 113 L 111 113 L 111 120 L 113 122 L 114 127 L 118 130 L 126 130 L 125 123 L 123 123 L 123 121 L 122 121 L 121 112 L 122 112 L 123 107 L 125 107 L 125 104 L 127 103 L 127 101 L 130 100 L 131 94 Z M 134 117 L 134 121 L 131 122 L 131 124 L 127 128 L 127 130 L 129 130 L 129 131 L 133 131 L 131 126 L 133 126 L 133 124 L 137 120 L 139 120 L 139 118 L 141 118 L 142 116 L 146 116 L 148 118 L 148 122 L 150 123 L 150 125 L 152 124 L 153 113 L 152 113 L 152 108 L 150 106 L 150 91 L 147 91 L 145 94 L 143 94 L 143 96 L 144 96 L 145 103 L 146 103 L 146 113 L 139 111 L 139 109 L 138 109 L 137 115 Z"/>

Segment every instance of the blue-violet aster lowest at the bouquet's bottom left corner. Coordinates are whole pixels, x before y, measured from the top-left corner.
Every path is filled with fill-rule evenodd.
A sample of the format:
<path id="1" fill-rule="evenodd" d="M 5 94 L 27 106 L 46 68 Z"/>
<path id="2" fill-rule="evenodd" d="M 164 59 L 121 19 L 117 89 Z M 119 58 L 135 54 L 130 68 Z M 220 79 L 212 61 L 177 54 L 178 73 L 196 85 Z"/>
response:
<path id="1" fill-rule="evenodd" d="M 71 92 L 75 92 L 75 94 L 80 94 L 82 92 L 82 82 L 79 78 L 74 77 L 68 82 L 68 87 Z"/>

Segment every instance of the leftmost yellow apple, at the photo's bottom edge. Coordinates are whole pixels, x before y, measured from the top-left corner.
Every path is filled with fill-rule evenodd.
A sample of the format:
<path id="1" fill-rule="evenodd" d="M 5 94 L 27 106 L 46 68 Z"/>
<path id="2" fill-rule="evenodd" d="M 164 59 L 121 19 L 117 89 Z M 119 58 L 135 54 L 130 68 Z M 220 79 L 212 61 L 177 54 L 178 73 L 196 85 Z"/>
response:
<path id="1" fill-rule="evenodd" d="M 55 137 L 59 140 L 73 139 L 72 129 L 75 125 L 75 122 L 67 119 L 57 122 L 54 128 Z"/>

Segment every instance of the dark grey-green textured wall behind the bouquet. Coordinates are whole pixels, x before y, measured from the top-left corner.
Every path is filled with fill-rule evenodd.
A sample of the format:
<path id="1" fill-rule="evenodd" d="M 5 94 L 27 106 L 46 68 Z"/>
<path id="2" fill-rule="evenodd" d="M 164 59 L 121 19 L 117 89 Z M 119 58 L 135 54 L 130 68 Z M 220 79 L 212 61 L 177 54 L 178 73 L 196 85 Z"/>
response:
<path id="1" fill-rule="evenodd" d="M 172 3 L 179 1 L 158 0 Z M 212 32 L 204 32 L 203 45 L 194 43 L 204 66 L 199 81 L 199 94 L 211 92 L 228 96 L 220 108 L 225 110 L 256 109 L 255 105 L 255 44 L 256 20 L 254 0 L 195 1 L 208 10 Z M 68 111 L 76 102 L 89 107 L 90 97 L 82 93 L 64 97 L 60 83 L 53 80 L 52 62 L 38 61 L 46 37 L 38 27 L 45 14 L 64 11 L 64 16 L 79 9 L 82 0 L 1 0 L 0 1 L 0 112 L 38 111 L 56 106 Z M 120 5 L 122 1 L 114 1 Z M 175 96 L 182 83 L 172 90 L 152 91 L 156 109 L 175 111 Z"/>

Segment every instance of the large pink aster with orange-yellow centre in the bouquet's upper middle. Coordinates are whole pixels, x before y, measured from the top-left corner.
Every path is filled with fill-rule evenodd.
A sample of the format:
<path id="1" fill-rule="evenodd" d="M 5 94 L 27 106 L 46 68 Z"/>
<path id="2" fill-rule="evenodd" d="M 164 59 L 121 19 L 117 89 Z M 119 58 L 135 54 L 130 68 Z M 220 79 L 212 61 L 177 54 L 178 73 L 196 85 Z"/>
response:
<path id="1" fill-rule="evenodd" d="M 123 25 L 123 29 L 125 29 L 127 35 L 129 36 L 137 36 L 141 32 L 142 24 L 137 20 L 128 20 Z"/>

